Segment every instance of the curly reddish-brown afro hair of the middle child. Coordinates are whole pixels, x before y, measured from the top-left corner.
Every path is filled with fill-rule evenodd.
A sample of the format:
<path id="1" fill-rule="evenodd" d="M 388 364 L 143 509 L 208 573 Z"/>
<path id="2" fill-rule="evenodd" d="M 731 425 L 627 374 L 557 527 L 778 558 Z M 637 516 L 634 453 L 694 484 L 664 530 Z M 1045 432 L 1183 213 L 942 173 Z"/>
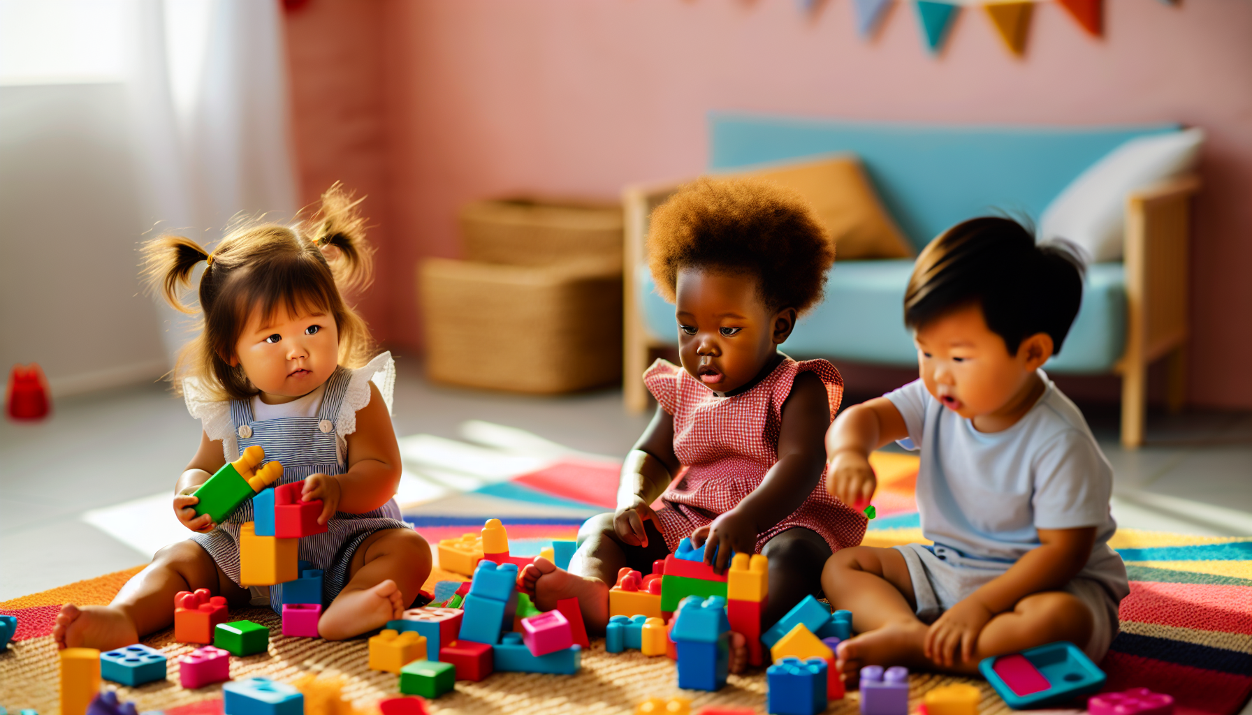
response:
<path id="1" fill-rule="evenodd" d="M 835 248 L 800 194 L 762 179 L 701 178 L 652 212 L 649 268 L 674 303 L 679 270 L 757 278 L 767 311 L 804 313 L 821 301 Z"/>

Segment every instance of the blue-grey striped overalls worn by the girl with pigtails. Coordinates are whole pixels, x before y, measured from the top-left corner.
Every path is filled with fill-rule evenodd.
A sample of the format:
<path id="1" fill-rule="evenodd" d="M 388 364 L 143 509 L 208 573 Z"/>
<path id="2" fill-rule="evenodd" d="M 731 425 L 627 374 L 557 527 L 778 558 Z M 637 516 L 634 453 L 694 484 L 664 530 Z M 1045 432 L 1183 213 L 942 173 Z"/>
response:
<path id="1" fill-rule="evenodd" d="M 239 436 L 239 453 L 259 445 L 265 450 L 265 461 L 277 460 L 283 465 L 283 476 L 274 483 L 288 485 L 312 475 L 342 475 L 348 471 L 341 465 L 336 448 L 336 421 L 348 389 L 352 371 L 339 367 L 327 381 L 322 407 L 317 417 L 284 417 L 257 422 L 252 399 L 232 399 L 230 419 Z M 347 460 L 347 455 L 344 455 Z M 218 567 L 235 584 L 239 582 L 239 527 L 253 520 L 252 500 L 245 501 L 217 528 L 209 533 L 197 533 L 192 538 L 213 556 Z M 383 528 L 411 528 L 401 521 L 396 500 L 364 513 L 338 511 L 327 522 L 327 531 L 300 538 L 299 558 L 321 568 L 322 602 L 329 604 L 348 582 L 352 555 L 369 535 Z M 282 585 L 269 587 L 269 604 L 282 614 Z"/>

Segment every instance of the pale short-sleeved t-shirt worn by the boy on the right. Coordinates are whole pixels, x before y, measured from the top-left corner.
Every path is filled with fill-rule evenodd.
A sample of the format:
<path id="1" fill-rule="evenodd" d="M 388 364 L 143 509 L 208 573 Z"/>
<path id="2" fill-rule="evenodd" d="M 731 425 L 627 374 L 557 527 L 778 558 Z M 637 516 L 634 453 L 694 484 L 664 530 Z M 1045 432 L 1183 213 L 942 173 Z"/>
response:
<path id="1" fill-rule="evenodd" d="M 1040 369 L 1047 388 L 1008 430 L 979 432 L 918 379 L 889 392 L 909 430 L 900 446 L 920 450 L 921 532 L 963 555 L 1014 562 L 1039 546 L 1039 528 L 1096 527 L 1082 576 L 1129 592 L 1126 566 L 1108 540 L 1113 468 L 1082 412 Z"/>

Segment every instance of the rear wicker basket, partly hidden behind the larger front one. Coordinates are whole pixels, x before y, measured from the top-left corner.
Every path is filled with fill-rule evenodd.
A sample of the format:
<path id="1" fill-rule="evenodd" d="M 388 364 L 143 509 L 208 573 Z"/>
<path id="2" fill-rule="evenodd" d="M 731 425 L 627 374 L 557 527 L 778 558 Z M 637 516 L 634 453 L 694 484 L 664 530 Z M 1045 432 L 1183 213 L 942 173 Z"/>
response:
<path id="1" fill-rule="evenodd" d="M 472 202 L 461 209 L 466 258 L 510 265 L 622 260 L 620 205 L 561 200 Z"/>

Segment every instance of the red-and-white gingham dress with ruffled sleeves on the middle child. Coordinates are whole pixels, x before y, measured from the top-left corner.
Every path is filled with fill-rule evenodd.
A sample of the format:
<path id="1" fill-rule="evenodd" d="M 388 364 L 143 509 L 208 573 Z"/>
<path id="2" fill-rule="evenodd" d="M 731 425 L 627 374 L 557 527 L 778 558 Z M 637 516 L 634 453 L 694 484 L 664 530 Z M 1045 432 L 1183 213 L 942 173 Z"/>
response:
<path id="1" fill-rule="evenodd" d="M 730 511 L 765 480 L 765 472 L 779 458 L 782 403 L 801 372 L 821 378 L 834 419 L 844 378 L 824 359 L 784 358 L 765 379 L 732 397 L 719 397 L 687 371 L 664 359 L 644 373 L 644 383 L 661 408 L 674 416 L 674 453 L 686 468 L 677 483 L 661 495 L 665 507 L 656 512 L 670 551 L 682 537 Z M 831 551 L 839 551 L 859 545 L 866 523 L 864 515 L 826 493 L 823 476 L 799 508 L 756 536 L 756 552 L 796 526 L 820 533 Z"/>

